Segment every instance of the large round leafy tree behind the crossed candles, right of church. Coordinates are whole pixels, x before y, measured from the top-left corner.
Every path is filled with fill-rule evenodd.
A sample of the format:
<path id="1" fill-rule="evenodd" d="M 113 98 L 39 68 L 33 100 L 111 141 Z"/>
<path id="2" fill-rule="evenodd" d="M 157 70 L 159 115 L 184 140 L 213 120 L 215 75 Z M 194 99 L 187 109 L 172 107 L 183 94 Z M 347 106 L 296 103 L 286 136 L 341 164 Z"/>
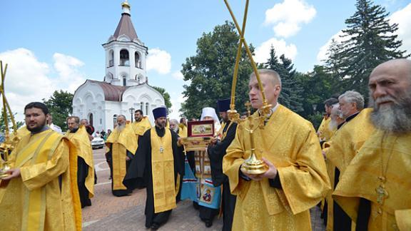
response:
<path id="1" fill-rule="evenodd" d="M 235 56 L 240 36 L 233 23 L 228 21 L 215 26 L 213 32 L 203 33 L 197 41 L 196 56 L 186 58 L 181 71 L 185 81 L 183 94 L 187 98 L 181 105 L 181 112 L 186 118 L 199 118 L 201 108 L 216 108 L 216 101 L 230 98 Z M 250 45 L 250 50 L 254 48 Z M 235 109 L 245 111 L 248 101 L 248 81 L 252 72 L 250 60 L 243 48 L 238 68 L 238 81 L 235 93 Z"/>

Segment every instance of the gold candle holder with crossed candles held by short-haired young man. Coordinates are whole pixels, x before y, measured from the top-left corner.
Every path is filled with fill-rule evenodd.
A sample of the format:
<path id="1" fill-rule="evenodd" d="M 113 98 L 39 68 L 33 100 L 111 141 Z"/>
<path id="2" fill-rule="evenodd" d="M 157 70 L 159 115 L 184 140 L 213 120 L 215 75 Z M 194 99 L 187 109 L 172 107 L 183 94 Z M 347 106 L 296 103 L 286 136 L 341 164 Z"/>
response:
<path id="1" fill-rule="evenodd" d="M 255 62 L 253 59 L 253 54 L 251 53 L 250 48 L 248 47 L 248 44 L 244 39 L 245 24 L 247 21 L 247 12 L 248 12 L 248 1 L 249 0 L 247 0 L 245 3 L 243 28 L 240 29 L 237 19 L 235 19 L 233 11 L 231 10 L 230 5 L 228 4 L 228 0 L 224 0 L 225 6 L 227 6 L 228 11 L 230 12 L 231 17 L 233 18 L 235 28 L 238 30 L 238 34 L 240 34 L 240 41 L 238 42 L 237 56 L 235 57 L 233 83 L 231 85 L 230 110 L 228 110 L 228 118 L 238 123 L 238 125 L 243 127 L 246 131 L 248 131 L 250 135 L 250 150 L 248 150 L 248 152 L 250 152 L 250 156 L 247 160 L 244 161 L 243 165 L 241 165 L 240 170 L 243 173 L 247 173 L 247 174 L 262 174 L 268 170 L 268 166 L 263 162 L 263 160 L 260 160 L 259 158 L 257 158 L 257 155 L 255 153 L 254 132 L 257 129 L 264 128 L 264 121 L 267 120 L 268 117 L 271 115 L 272 106 L 268 104 L 267 98 L 265 98 L 263 84 L 261 83 L 260 75 L 258 73 L 257 66 L 255 65 Z M 245 118 L 245 119 L 241 119 L 240 115 L 235 110 L 235 86 L 237 83 L 238 64 L 240 63 L 240 56 L 241 56 L 241 51 L 242 51 L 243 46 L 245 48 L 245 51 L 247 52 L 248 58 L 250 58 L 251 66 L 253 67 L 255 77 L 257 78 L 257 81 L 258 81 L 258 87 L 260 88 L 261 96 L 263 98 L 263 106 L 261 106 L 258 109 L 259 116 L 258 117 L 248 116 L 248 118 Z M 245 123 L 246 121 L 248 121 L 248 123 Z M 263 153 L 260 153 L 260 154 L 263 154 Z"/>

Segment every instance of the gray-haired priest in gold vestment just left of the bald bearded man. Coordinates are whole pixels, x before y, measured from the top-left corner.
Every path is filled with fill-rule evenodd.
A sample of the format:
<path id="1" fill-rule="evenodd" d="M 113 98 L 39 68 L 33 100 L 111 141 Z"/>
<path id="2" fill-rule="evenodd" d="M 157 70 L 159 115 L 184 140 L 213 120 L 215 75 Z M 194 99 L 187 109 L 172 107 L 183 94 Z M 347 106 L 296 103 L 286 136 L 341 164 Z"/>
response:
<path id="1" fill-rule="evenodd" d="M 364 98 L 356 91 L 346 91 L 339 97 L 340 111 L 345 123 L 329 142 L 324 143 L 323 149 L 327 158 L 330 181 L 333 190 L 338 184 L 340 175 L 350 164 L 365 140 L 372 134 L 374 126 L 370 122 L 372 108 L 364 108 Z M 333 202 L 328 194 L 328 230 L 350 230 L 354 227 L 350 217 Z"/>

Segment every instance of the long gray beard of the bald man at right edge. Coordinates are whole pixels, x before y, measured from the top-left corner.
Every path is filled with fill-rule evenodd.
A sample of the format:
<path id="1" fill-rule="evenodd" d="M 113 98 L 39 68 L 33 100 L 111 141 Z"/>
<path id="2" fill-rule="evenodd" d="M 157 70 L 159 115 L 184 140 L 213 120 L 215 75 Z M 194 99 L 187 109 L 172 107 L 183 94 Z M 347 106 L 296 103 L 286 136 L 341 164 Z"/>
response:
<path id="1" fill-rule="evenodd" d="M 411 93 L 402 93 L 402 95 L 404 96 L 399 97 L 391 106 L 378 108 L 377 103 L 374 104 L 371 121 L 376 128 L 390 133 L 411 132 Z"/>

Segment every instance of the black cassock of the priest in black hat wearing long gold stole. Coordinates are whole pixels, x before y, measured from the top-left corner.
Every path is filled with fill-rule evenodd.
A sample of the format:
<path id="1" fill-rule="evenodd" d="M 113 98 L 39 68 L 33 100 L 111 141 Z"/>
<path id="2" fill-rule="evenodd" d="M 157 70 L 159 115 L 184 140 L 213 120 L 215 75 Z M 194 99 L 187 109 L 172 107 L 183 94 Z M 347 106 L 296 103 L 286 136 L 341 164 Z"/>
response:
<path id="1" fill-rule="evenodd" d="M 155 128 L 157 135 L 163 137 L 165 128 L 160 129 L 157 126 Z M 178 135 L 173 130 L 171 130 L 171 139 L 174 158 L 174 182 L 177 184 L 177 173 L 181 176 L 184 175 L 184 153 L 183 148 L 179 148 L 177 145 Z M 147 199 L 144 212 L 146 215 L 146 227 L 151 227 L 153 223 L 161 225 L 167 222 L 171 210 L 154 212 L 153 175 L 151 173 L 151 129 L 138 138 L 138 149 L 131 161 L 123 184 L 129 189 L 141 188 L 143 185 L 146 185 Z"/>

